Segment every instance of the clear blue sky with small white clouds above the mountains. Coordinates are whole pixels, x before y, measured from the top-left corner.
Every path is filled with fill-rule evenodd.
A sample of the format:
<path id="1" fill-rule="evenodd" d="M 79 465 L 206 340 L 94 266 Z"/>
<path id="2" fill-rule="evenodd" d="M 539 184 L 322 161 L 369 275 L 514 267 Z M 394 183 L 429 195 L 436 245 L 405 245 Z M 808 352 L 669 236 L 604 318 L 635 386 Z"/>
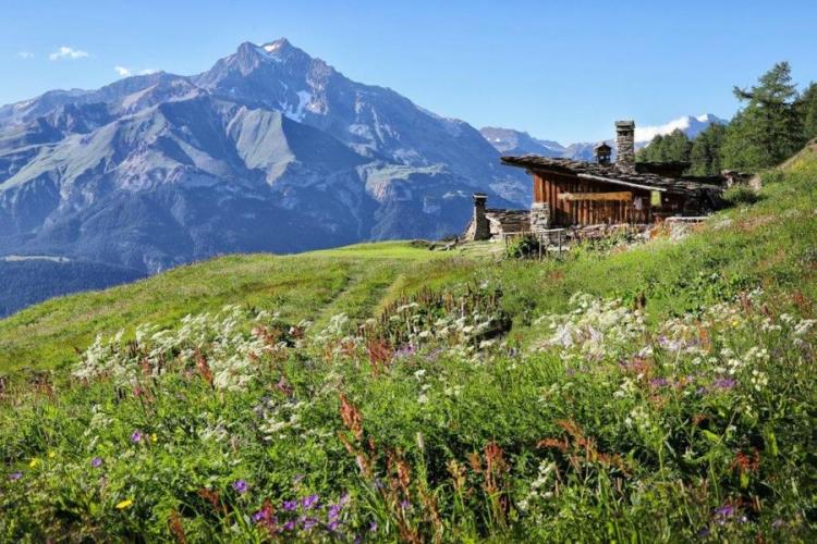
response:
<path id="1" fill-rule="evenodd" d="M 817 1 L 0 0 L 0 104 L 285 37 L 352 79 L 476 127 L 563 144 L 730 118 L 776 62 L 817 81 Z"/>

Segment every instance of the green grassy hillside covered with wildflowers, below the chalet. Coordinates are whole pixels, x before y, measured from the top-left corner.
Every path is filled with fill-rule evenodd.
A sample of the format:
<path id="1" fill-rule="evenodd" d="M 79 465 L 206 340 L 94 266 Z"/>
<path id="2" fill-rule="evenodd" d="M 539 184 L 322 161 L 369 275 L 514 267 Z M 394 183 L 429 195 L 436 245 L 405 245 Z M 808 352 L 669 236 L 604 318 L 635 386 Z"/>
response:
<path id="1" fill-rule="evenodd" d="M 765 178 L 682 240 L 225 257 L 0 321 L 0 540 L 809 541 L 817 150 Z"/>

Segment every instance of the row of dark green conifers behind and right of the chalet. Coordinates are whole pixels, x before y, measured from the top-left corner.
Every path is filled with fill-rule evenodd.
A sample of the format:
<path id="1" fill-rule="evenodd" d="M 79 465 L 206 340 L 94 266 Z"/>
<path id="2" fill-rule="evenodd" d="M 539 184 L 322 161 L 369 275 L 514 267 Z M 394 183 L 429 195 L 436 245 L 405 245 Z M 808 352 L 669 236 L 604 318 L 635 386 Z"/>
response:
<path id="1" fill-rule="evenodd" d="M 711 124 L 690 139 L 675 129 L 641 149 L 642 162 L 688 162 L 691 175 L 721 170 L 756 172 L 779 164 L 817 137 L 817 83 L 803 92 L 792 83 L 791 66 L 780 62 L 757 85 L 734 87 L 744 104 L 728 124 Z"/>

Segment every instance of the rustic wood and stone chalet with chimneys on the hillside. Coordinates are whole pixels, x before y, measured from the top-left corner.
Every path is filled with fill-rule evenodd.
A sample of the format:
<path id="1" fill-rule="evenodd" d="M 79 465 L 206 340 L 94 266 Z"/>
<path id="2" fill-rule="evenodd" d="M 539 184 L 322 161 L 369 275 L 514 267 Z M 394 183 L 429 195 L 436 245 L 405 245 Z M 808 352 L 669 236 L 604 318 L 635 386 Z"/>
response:
<path id="1" fill-rule="evenodd" d="M 598 224 L 649 224 L 669 217 L 702 215 L 720 205 L 728 175 L 684 176 L 688 163 L 635 162 L 635 123 L 615 123 L 618 157 L 599 144 L 596 160 L 575 161 L 525 154 L 502 157 L 533 178 L 531 210 L 487 208 L 487 196 L 474 195 L 474 215 L 465 239 L 490 239 L 514 233 Z"/>

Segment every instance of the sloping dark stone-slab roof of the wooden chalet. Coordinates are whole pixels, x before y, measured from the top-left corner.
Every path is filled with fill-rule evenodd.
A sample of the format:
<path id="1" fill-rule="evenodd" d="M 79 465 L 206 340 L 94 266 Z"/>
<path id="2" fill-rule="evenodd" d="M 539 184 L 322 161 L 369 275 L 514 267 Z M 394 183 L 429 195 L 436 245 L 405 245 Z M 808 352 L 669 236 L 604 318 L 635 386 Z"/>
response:
<path id="1" fill-rule="evenodd" d="M 717 196 L 721 193 L 721 188 L 717 185 L 704 184 L 683 177 L 664 177 L 649 172 L 623 170 L 617 164 L 600 164 L 598 162 L 574 161 L 572 159 L 539 157 L 536 154 L 502 157 L 501 160 L 503 164 L 510 166 L 524 168 L 531 171 L 571 174 L 585 180 L 623 187 L 658 190 L 690 197 L 702 197 L 707 194 Z"/>

